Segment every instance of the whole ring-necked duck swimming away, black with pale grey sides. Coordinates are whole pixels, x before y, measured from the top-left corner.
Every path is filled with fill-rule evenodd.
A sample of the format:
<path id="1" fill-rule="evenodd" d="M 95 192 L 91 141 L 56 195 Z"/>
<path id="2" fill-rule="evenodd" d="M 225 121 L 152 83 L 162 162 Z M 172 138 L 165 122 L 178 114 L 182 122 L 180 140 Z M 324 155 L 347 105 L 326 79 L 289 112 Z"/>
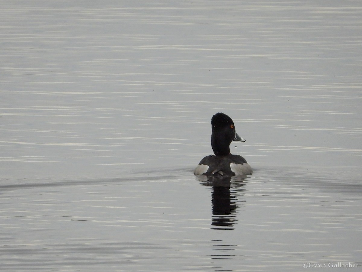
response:
<path id="1" fill-rule="evenodd" d="M 211 147 L 215 155 L 206 156 L 195 168 L 195 175 L 229 177 L 253 173 L 251 166 L 240 155 L 230 153 L 232 141 L 245 142 L 237 135 L 234 122 L 219 112 L 211 118 Z"/>

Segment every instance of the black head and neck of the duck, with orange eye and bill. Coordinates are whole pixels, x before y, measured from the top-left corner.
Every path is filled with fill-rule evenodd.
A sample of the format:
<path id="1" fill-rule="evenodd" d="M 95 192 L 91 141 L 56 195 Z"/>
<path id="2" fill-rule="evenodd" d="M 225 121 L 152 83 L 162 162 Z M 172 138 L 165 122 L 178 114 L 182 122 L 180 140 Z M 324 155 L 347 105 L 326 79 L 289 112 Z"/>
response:
<path id="1" fill-rule="evenodd" d="M 236 134 L 234 122 L 229 116 L 219 112 L 211 118 L 211 147 L 216 156 L 230 154 L 231 141 L 242 141 L 243 138 Z"/>

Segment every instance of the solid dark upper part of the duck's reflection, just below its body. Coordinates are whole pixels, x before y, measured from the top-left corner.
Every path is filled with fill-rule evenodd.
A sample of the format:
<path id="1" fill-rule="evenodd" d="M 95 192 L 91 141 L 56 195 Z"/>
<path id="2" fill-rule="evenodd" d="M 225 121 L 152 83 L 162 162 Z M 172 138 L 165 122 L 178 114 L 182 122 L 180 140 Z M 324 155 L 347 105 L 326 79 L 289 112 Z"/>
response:
<path id="1" fill-rule="evenodd" d="M 245 189 L 245 177 L 214 178 L 205 177 L 201 181 L 204 186 L 211 186 L 212 229 L 234 230 L 237 222 L 237 203 L 245 202 L 241 197 Z"/>

